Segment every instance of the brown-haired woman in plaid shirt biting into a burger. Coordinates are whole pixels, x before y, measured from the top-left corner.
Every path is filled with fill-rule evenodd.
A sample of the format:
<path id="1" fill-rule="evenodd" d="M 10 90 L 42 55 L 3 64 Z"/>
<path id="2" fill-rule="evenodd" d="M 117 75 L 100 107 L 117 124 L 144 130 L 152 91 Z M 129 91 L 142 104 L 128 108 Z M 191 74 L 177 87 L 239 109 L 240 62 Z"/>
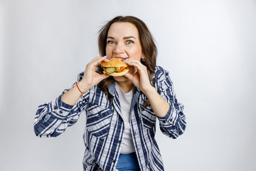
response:
<path id="1" fill-rule="evenodd" d="M 164 170 L 154 138 L 177 138 L 186 128 L 169 73 L 156 66 L 154 39 L 143 21 L 117 16 L 101 30 L 100 55 L 87 63 L 78 81 L 56 100 L 38 107 L 34 129 L 55 137 L 85 111 L 84 170 Z M 97 71 L 108 58 L 123 58 L 129 73 L 112 77 Z"/>

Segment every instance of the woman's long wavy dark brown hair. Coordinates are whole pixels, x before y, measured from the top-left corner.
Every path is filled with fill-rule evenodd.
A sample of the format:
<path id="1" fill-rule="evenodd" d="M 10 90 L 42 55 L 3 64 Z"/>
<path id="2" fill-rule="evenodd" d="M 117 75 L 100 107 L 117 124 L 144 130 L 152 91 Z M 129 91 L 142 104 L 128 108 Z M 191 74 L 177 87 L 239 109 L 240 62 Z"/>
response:
<path id="1" fill-rule="evenodd" d="M 142 53 L 145 56 L 145 58 L 141 60 L 141 63 L 144 66 L 146 66 L 149 74 L 149 80 L 150 82 L 152 82 L 154 79 L 154 71 L 156 68 L 157 48 L 156 48 L 156 44 L 154 43 L 154 38 L 149 31 L 149 28 L 147 28 L 146 24 L 144 24 L 144 22 L 138 19 L 137 17 L 116 16 L 114 17 L 114 19 L 108 21 L 107 24 L 105 24 L 105 26 L 103 26 L 100 29 L 99 37 L 98 37 L 98 46 L 99 46 L 100 56 L 106 55 L 107 33 L 110 29 L 110 26 L 116 22 L 129 22 L 131 24 L 134 24 L 134 26 L 137 27 L 137 30 L 139 32 L 139 41 L 142 46 Z M 108 93 L 107 88 L 112 86 L 113 83 L 114 83 L 114 78 L 110 76 L 105 80 L 101 81 L 98 84 L 98 87 L 100 87 L 100 89 L 110 97 L 111 95 L 110 93 Z"/>

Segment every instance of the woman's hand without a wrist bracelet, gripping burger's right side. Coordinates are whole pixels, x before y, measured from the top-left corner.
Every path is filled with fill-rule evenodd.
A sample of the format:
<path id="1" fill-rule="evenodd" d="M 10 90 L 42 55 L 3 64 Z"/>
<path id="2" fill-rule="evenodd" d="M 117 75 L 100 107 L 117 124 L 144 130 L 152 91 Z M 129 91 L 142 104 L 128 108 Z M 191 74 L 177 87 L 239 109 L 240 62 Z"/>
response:
<path id="1" fill-rule="evenodd" d="M 149 75 L 146 66 L 134 58 L 127 58 L 124 62 L 129 66 L 134 66 L 135 68 L 134 73 L 127 73 L 124 76 L 131 80 L 134 86 L 142 90 L 143 93 L 146 93 L 147 90 L 150 90 L 152 86 L 149 81 Z"/>

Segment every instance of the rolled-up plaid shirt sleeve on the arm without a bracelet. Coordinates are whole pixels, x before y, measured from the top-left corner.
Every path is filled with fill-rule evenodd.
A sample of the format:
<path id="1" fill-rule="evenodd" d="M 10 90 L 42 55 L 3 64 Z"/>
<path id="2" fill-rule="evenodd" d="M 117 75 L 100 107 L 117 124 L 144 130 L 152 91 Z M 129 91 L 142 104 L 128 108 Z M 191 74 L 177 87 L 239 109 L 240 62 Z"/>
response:
<path id="1" fill-rule="evenodd" d="M 174 86 L 169 78 L 169 72 L 159 67 L 156 72 L 156 87 L 158 93 L 169 103 L 170 107 L 165 117 L 159 119 L 160 130 L 170 138 L 178 138 L 186 129 L 186 117 L 183 113 L 183 104 L 178 103 Z"/>

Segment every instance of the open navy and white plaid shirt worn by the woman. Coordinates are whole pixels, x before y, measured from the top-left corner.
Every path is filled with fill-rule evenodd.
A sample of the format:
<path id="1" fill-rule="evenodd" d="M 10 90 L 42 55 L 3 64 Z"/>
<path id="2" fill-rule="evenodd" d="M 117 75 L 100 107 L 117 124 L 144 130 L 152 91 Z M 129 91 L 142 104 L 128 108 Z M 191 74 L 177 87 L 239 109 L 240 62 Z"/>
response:
<path id="1" fill-rule="evenodd" d="M 83 73 L 78 75 L 78 81 Z M 75 84 L 73 85 L 75 86 Z M 183 105 L 178 103 L 168 71 L 156 66 L 154 86 L 169 104 L 165 117 L 155 115 L 151 105 L 144 106 L 146 95 L 136 88 L 131 105 L 130 125 L 132 139 L 141 170 L 164 170 L 159 147 L 156 144 L 156 118 L 160 130 L 170 138 L 177 138 L 186 128 Z M 124 121 L 119 97 L 113 86 L 108 89 L 114 96 L 110 101 L 100 88 L 94 86 L 83 94 L 75 105 L 68 105 L 58 98 L 38 107 L 34 130 L 38 137 L 55 137 L 75 124 L 85 111 L 84 170 L 116 170 L 121 142 L 124 138 Z M 64 90 L 63 93 L 68 91 Z"/>

